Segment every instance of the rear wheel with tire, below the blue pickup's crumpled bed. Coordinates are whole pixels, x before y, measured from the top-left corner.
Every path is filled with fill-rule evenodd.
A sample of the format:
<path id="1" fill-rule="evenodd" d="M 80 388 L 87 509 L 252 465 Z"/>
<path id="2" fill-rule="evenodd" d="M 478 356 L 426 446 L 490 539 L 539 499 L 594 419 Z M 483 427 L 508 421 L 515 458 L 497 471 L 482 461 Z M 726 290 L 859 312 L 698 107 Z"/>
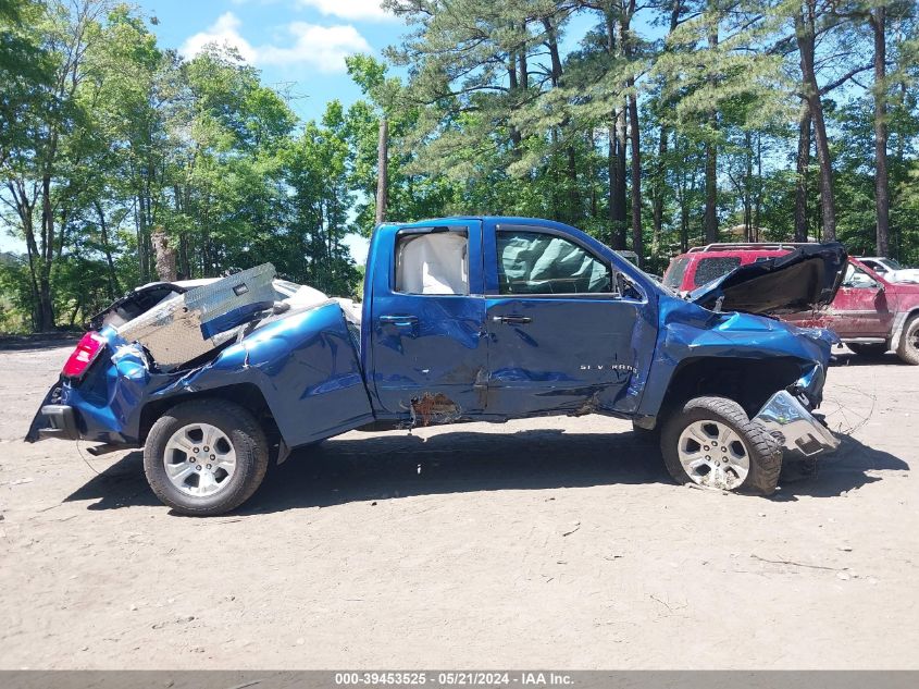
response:
<path id="1" fill-rule="evenodd" d="M 153 423 L 144 446 L 150 488 L 186 515 L 238 507 L 259 488 L 268 464 L 268 441 L 258 421 L 222 399 L 176 405 Z"/>

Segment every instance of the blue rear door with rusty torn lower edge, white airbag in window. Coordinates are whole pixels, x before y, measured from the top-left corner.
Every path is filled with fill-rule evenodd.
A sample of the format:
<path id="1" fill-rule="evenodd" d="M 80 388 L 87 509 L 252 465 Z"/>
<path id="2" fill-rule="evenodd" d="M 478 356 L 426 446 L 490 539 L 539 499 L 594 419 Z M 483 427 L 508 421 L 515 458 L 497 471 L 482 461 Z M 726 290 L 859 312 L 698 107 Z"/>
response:
<path id="1" fill-rule="evenodd" d="M 422 426 L 474 416 L 487 374 L 481 221 L 377 232 L 384 244 L 372 249 L 377 262 L 365 327 L 380 406 Z"/>

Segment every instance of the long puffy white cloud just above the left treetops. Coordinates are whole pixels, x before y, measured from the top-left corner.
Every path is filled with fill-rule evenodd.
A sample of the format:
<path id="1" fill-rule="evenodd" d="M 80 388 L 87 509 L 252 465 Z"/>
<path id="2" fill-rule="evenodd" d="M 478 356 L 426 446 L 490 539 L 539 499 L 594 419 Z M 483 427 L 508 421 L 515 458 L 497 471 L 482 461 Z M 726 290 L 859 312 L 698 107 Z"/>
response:
<path id="1" fill-rule="evenodd" d="M 218 44 L 236 48 L 246 62 L 257 65 L 311 65 L 322 72 L 341 72 L 346 56 L 373 51 L 367 39 L 350 24 L 319 26 L 293 22 L 287 25 L 294 38 L 290 46 L 253 46 L 239 33 L 241 25 L 233 12 L 221 14 L 212 26 L 189 36 L 179 52 L 191 58 L 208 44 Z"/>

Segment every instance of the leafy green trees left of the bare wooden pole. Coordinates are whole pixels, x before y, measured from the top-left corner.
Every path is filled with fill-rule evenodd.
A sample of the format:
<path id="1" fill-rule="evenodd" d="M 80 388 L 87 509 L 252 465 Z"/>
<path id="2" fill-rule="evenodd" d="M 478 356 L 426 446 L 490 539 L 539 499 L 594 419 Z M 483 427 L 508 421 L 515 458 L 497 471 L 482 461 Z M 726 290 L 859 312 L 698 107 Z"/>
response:
<path id="1" fill-rule="evenodd" d="M 157 280 L 153 232 L 181 279 L 273 261 L 352 293 L 341 239 L 355 155 L 339 104 L 300 127 L 237 53 L 183 60 L 135 10 L 103 0 L 0 0 L 0 32 L 14 87 L 0 96 L 2 222 L 27 245 L 2 268 L 0 329 L 79 325 Z"/>

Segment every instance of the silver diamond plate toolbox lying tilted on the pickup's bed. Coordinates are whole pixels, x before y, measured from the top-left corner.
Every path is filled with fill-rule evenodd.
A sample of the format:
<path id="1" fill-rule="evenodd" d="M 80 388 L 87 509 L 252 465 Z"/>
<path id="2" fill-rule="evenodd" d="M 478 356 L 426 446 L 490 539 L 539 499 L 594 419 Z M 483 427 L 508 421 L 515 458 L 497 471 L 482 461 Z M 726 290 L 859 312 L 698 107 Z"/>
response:
<path id="1" fill-rule="evenodd" d="M 275 270 L 263 263 L 161 302 L 119 334 L 142 344 L 162 370 L 206 355 L 275 300 Z"/>

